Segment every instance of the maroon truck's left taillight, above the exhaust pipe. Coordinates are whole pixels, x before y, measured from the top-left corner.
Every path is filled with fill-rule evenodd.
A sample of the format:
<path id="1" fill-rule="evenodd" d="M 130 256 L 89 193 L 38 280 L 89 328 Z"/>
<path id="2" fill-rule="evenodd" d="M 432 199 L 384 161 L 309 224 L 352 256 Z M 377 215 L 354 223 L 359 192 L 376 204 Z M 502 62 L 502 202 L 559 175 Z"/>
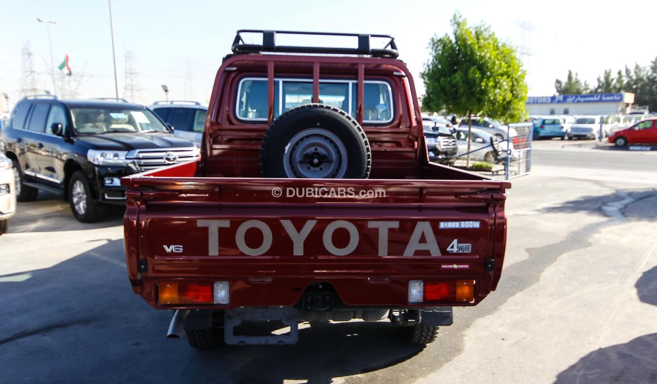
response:
<path id="1" fill-rule="evenodd" d="M 173 304 L 222 304 L 229 302 L 228 282 L 214 283 L 158 283 L 158 303 Z"/>

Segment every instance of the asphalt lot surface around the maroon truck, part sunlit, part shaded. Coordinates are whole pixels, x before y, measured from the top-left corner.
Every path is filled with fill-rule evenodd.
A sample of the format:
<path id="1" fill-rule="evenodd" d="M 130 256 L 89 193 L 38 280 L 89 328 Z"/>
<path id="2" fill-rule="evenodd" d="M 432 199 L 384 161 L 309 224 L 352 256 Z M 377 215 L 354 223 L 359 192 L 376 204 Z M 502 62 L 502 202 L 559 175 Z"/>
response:
<path id="1" fill-rule="evenodd" d="M 507 200 L 497 291 L 421 349 L 387 322 L 289 346 L 191 349 L 135 295 L 122 213 L 19 203 L 0 237 L 0 383 L 654 383 L 657 155 L 537 142 Z"/>

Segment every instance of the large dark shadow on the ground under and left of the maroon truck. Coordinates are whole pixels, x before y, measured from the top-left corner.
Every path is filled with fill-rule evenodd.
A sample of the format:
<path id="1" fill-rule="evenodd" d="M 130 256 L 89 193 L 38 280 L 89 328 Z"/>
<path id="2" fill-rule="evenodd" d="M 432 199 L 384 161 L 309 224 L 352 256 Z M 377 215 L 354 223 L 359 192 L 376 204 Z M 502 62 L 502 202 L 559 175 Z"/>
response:
<path id="1" fill-rule="evenodd" d="M 386 322 L 300 330 L 287 346 L 200 352 L 166 339 L 170 311 L 133 293 L 122 240 L 51 268 L 0 277 L 0 383 L 330 383 L 415 356 Z"/>

